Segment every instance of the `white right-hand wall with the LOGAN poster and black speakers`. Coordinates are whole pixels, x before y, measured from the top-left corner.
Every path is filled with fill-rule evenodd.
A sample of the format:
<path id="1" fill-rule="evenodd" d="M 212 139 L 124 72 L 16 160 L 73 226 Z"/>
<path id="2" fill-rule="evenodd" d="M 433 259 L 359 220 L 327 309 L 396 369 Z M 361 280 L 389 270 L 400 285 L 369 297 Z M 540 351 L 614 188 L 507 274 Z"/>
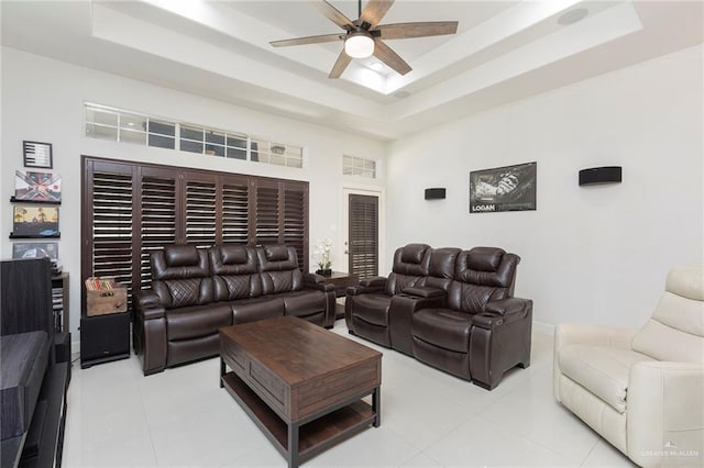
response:
<path id="1" fill-rule="evenodd" d="M 516 292 L 534 300 L 536 321 L 640 326 L 670 266 L 704 261 L 703 52 L 395 142 L 389 250 L 408 242 L 501 246 L 522 257 Z M 537 211 L 469 214 L 471 170 L 534 160 Z M 623 166 L 623 183 L 578 186 L 580 169 L 610 165 Z M 448 198 L 425 201 L 427 187 L 447 187 Z"/>

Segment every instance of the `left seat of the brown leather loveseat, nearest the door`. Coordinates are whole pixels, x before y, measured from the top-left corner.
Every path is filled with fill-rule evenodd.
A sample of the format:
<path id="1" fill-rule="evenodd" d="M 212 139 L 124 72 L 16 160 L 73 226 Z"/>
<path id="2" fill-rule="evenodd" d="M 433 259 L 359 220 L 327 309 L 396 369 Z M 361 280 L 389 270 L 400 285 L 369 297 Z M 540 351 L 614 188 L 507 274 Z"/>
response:
<path id="1" fill-rule="evenodd" d="M 408 244 L 397 248 L 388 278 L 366 278 L 359 286 L 348 288 L 344 317 L 351 333 L 392 347 L 388 327 L 392 298 L 425 279 L 430 265 L 430 250 L 426 244 Z"/>

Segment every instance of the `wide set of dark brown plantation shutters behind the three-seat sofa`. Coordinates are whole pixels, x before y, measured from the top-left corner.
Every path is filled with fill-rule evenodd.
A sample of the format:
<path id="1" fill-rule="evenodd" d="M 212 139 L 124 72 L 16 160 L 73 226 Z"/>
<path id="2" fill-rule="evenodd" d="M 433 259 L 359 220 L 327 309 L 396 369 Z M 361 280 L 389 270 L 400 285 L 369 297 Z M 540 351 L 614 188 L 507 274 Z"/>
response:
<path id="1" fill-rule="evenodd" d="M 308 182 L 87 156 L 82 167 L 81 279 L 150 288 L 150 254 L 174 244 L 285 243 L 308 271 Z"/>

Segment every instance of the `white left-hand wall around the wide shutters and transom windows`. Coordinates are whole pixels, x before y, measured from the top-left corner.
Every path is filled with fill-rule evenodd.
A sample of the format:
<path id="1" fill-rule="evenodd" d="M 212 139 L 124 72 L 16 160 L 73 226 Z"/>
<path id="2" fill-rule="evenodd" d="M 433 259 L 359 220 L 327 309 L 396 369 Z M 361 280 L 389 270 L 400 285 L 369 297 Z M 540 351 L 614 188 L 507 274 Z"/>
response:
<path id="1" fill-rule="evenodd" d="M 310 182 L 310 242 L 331 237 L 336 258 L 343 258 L 341 232 L 342 154 L 382 159 L 385 144 L 330 129 L 283 119 L 245 108 L 204 99 L 116 75 L 56 62 L 16 49 L 2 48 L 2 158 L 0 161 L 0 256 L 12 255 L 14 171 L 23 169 L 22 141 L 53 144 L 54 169 L 63 177 L 59 259 L 70 272 L 70 327 L 78 339 L 80 316 L 80 155 L 201 167 Z M 294 169 L 257 163 L 204 157 L 84 137 L 84 102 L 164 116 L 177 121 L 232 130 L 283 143 L 307 146 L 308 167 Z M 374 183 L 366 180 L 365 183 Z M 382 186 L 383 181 L 376 185 Z M 312 253 L 312 247 L 310 249 Z M 341 263 L 341 261 L 340 261 Z M 312 263 L 311 263 L 312 265 Z M 336 268 L 346 268 L 336 263 Z"/>

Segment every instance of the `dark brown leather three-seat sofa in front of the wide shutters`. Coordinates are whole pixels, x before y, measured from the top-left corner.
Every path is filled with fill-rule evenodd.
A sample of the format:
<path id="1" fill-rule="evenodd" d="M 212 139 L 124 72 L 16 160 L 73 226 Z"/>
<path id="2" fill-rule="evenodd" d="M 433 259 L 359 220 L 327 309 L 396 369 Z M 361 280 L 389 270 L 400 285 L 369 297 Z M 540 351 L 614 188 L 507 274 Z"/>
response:
<path id="1" fill-rule="evenodd" d="M 152 289 L 133 297 L 144 375 L 217 355 L 222 326 L 279 315 L 334 322 L 334 287 L 302 274 L 290 246 L 167 246 L 151 267 Z"/>

